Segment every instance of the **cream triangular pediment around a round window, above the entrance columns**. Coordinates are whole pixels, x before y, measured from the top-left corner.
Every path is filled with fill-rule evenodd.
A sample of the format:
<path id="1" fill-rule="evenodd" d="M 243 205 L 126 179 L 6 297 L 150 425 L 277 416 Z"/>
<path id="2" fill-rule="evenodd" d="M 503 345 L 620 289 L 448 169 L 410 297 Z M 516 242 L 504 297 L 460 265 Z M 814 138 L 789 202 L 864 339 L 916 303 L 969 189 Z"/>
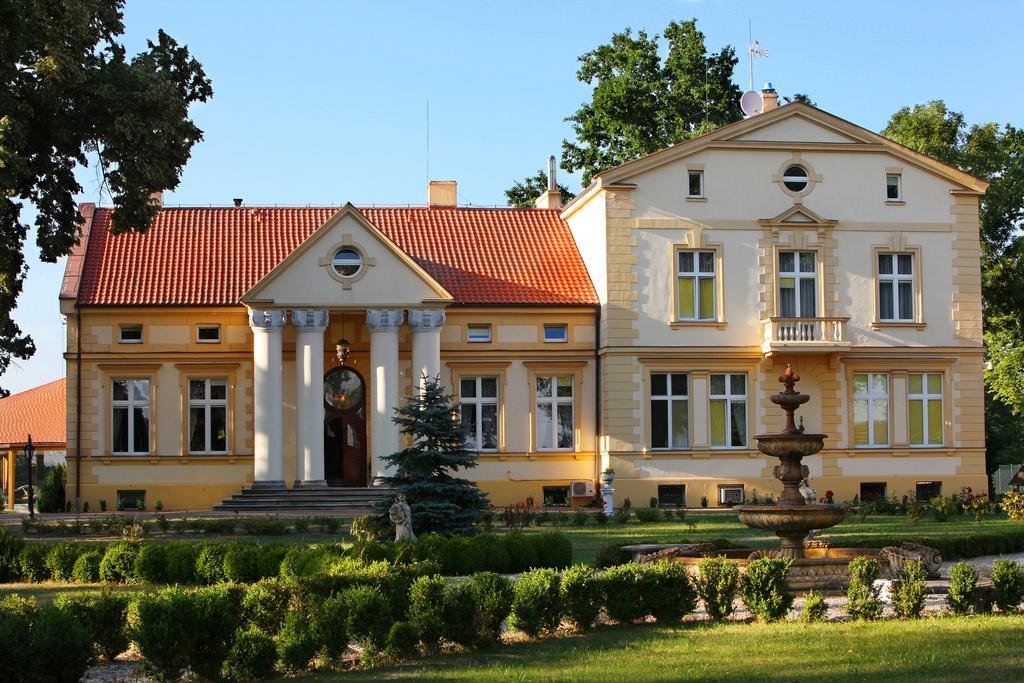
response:
<path id="1" fill-rule="evenodd" d="M 340 251 L 358 269 L 339 271 Z M 342 269 L 344 270 L 344 269 Z M 452 295 L 412 257 L 346 204 L 242 297 L 263 306 L 361 308 L 446 302 Z"/>

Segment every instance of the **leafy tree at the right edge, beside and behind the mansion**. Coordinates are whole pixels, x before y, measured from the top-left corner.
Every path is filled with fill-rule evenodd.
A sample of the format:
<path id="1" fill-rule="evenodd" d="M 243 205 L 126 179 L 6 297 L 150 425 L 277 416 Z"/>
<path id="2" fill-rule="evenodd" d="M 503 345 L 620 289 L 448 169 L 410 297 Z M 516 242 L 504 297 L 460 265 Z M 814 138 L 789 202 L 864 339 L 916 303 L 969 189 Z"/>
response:
<path id="1" fill-rule="evenodd" d="M 989 467 L 1024 451 L 1024 130 L 975 124 L 942 100 L 904 106 L 882 133 L 987 180 L 981 199 L 981 269 Z M 1007 410 L 1009 409 L 1009 410 Z"/>

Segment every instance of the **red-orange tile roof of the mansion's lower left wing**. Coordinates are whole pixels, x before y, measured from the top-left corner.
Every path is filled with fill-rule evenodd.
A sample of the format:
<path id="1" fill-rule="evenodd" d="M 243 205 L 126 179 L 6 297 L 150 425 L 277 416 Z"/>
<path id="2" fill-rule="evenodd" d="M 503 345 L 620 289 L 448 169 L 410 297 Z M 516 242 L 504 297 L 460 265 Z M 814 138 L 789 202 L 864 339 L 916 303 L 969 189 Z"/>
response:
<path id="1" fill-rule="evenodd" d="M 109 230 L 113 210 L 96 209 L 80 266 L 78 301 L 237 304 L 339 208 L 165 208 L 145 233 L 117 236 Z M 359 211 L 458 303 L 597 303 L 587 267 L 557 211 Z"/>

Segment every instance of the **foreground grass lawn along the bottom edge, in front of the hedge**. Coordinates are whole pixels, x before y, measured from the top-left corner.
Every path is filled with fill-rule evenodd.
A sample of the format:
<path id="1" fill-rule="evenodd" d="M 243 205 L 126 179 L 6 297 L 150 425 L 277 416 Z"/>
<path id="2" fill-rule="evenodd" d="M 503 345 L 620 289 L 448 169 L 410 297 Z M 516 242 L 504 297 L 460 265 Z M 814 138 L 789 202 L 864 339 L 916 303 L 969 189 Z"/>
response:
<path id="1" fill-rule="evenodd" d="M 1024 680 L 1024 616 L 607 627 L 314 681 Z"/>

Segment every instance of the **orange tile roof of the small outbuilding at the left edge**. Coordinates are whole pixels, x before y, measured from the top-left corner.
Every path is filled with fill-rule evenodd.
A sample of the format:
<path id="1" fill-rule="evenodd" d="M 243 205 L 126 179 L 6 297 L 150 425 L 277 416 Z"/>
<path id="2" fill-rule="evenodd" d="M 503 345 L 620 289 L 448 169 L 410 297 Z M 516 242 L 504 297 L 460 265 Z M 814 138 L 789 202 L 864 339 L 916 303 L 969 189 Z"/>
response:
<path id="1" fill-rule="evenodd" d="M 63 380 L 0 398 L 0 445 L 65 447 L 68 441 L 67 390 Z"/>

